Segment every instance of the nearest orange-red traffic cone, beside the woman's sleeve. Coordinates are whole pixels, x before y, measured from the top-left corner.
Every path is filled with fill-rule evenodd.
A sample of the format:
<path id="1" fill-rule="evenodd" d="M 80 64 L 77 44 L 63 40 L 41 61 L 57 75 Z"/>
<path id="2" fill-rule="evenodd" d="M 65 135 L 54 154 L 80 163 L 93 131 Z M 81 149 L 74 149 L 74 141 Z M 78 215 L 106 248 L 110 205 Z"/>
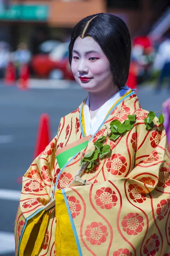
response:
<path id="1" fill-rule="evenodd" d="M 40 116 L 38 132 L 37 132 L 37 141 L 35 144 L 35 152 L 34 152 L 34 159 L 49 145 L 51 141 L 51 134 L 50 134 L 50 119 L 49 115 L 43 113 Z"/>

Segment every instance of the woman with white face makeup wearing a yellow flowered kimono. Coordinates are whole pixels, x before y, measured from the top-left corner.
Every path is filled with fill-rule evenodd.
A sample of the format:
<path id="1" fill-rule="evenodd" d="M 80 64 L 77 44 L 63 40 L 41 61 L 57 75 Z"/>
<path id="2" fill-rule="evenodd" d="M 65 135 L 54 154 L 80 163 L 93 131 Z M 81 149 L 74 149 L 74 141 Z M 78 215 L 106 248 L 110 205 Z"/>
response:
<path id="1" fill-rule="evenodd" d="M 126 86 L 130 53 L 119 17 L 73 29 L 69 62 L 88 97 L 23 176 L 16 255 L 169 255 L 170 147 Z"/>

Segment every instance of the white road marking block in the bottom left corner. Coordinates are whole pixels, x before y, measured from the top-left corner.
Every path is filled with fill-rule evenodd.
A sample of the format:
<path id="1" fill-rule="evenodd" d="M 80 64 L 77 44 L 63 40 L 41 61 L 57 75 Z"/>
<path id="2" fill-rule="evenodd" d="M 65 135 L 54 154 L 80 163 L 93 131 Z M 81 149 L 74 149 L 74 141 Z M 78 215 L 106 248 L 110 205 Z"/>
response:
<path id="1" fill-rule="evenodd" d="M 15 240 L 14 233 L 0 231 L 0 255 L 14 253 Z"/>

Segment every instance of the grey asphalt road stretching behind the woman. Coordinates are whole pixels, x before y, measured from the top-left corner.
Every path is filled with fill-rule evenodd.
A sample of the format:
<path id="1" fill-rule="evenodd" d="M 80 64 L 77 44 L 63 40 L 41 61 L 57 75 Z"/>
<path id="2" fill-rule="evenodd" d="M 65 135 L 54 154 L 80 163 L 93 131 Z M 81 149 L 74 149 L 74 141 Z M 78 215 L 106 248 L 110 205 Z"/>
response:
<path id="1" fill-rule="evenodd" d="M 41 82 L 39 84 L 41 87 Z M 61 116 L 75 110 L 86 96 L 86 92 L 77 85 L 66 86 L 63 89 L 50 88 L 21 91 L 16 87 L 5 87 L 0 84 L 1 256 L 14 256 L 14 218 L 21 189 L 17 178 L 26 172 L 33 160 L 40 114 L 49 114 L 51 133 L 54 137 Z M 168 95 L 165 89 L 156 94 L 153 88 L 142 87 L 138 91 L 138 97 L 143 108 L 159 111 Z"/>

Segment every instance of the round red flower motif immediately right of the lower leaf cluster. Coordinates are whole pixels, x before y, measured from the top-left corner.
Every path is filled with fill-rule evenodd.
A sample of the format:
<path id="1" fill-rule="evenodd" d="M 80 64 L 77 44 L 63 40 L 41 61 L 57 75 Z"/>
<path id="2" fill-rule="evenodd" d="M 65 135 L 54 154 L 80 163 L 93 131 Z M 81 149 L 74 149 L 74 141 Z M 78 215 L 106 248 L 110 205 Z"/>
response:
<path id="1" fill-rule="evenodd" d="M 112 154 L 106 164 L 108 172 L 111 172 L 112 175 L 121 175 L 126 171 L 126 166 L 126 158 L 121 156 L 121 154 Z"/>

